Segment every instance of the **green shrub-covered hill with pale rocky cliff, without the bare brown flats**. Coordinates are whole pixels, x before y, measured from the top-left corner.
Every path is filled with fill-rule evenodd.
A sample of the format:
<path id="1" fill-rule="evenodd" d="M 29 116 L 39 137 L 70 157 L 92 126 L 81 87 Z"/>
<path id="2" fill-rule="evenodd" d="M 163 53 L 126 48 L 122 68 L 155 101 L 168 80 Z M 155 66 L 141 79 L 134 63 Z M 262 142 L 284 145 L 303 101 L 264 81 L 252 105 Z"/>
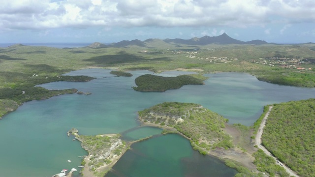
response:
<path id="1" fill-rule="evenodd" d="M 199 104 L 164 102 L 139 111 L 139 119 L 174 127 L 202 154 L 212 148 L 233 148 L 231 137 L 222 130 L 227 119 Z"/>

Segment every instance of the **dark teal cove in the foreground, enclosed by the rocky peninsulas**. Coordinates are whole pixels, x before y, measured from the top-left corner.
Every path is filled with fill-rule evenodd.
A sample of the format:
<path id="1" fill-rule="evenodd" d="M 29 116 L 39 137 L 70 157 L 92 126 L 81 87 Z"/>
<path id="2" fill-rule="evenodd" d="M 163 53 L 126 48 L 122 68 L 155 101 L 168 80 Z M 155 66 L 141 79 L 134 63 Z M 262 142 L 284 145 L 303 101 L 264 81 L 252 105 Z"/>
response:
<path id="1" fill-rule="evenodd" d="M 106 177 L 233 177 L 234 169 L 192 150 L 178 134 L 161 135 L 131 146 Z"/>

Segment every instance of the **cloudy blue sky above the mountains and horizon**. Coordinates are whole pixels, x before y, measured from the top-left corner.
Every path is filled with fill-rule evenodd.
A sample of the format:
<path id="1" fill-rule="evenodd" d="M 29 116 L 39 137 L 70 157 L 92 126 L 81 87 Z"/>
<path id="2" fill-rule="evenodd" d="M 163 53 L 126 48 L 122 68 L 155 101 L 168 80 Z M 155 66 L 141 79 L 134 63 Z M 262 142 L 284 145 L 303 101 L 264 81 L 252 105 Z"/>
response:
<path id="1" fill-rule="evenodd" d="M 0 43 L 218 36 L 315 42 L 315 0 L 2 0 Z"/>

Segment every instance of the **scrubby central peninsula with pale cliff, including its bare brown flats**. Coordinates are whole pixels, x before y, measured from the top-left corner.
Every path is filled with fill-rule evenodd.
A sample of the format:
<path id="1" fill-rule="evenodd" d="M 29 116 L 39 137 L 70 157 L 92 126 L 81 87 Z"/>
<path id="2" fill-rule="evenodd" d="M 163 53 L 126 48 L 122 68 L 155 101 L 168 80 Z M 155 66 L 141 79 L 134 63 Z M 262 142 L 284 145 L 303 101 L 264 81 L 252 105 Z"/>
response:
<path id="1" fill-rule="evenodd" d="M 239 177 L 262 177 L 253 164 L 254 158 L 245 149 L 233 145 L 226 133 L 228 121 L 199 104 L 164 102 L 139 111 L 143 125 L 157 126 L 163 133 L 178 133 L 187 138 L 194 150 L 214 155 L 235 168 Z"/>

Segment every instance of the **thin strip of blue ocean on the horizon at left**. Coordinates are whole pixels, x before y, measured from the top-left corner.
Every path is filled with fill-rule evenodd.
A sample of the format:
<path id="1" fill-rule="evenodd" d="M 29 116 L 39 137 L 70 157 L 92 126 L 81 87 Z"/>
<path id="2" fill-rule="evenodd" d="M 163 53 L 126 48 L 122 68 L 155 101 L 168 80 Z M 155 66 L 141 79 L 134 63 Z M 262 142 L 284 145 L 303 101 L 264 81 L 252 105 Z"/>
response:
<path id="1" fill-rule="evenodd" d="M 55 48 L 79 48 L 79 47 L 86 47 L 91 45 L 93 42 L 90 43 L 0 43 L 1 48 L 9 47 L 14 44 L 22 44 L 26 46 L 45 46 L 45 47 L 55 47 Z M 110 44 L 110 43 L 102 43 L 102 44 Z"/>

